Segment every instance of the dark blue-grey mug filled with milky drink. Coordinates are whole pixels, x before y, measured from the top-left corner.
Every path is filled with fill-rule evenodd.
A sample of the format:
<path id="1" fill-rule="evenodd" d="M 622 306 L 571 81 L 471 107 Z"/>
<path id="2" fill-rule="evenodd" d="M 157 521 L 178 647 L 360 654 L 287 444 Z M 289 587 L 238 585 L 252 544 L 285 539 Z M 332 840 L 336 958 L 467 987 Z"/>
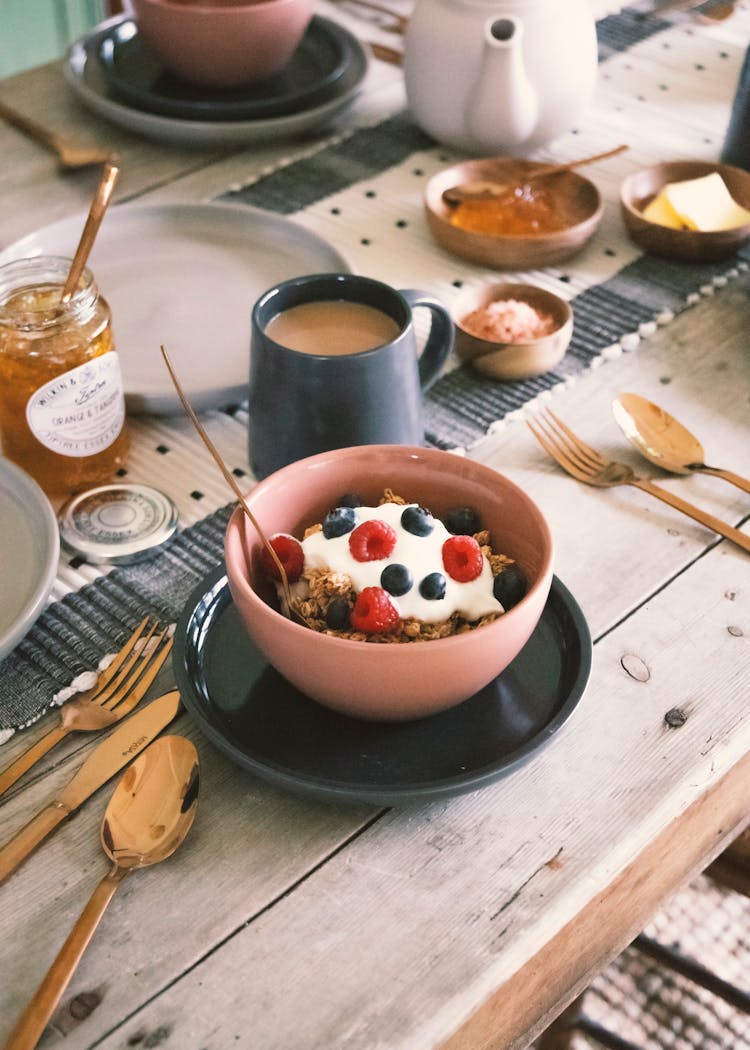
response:
<path id="1" fill-rule="evenodd" d="M 421 353 L 412 315 L 420 307 L 431 314 Z M 265 478 L 350 445 L 423 444 L 422 394 L 453 342 L 450 313 L 426 292 L 353 274 L 309 274 L 269 289 L 252 311 L 253 472 Z"/>

